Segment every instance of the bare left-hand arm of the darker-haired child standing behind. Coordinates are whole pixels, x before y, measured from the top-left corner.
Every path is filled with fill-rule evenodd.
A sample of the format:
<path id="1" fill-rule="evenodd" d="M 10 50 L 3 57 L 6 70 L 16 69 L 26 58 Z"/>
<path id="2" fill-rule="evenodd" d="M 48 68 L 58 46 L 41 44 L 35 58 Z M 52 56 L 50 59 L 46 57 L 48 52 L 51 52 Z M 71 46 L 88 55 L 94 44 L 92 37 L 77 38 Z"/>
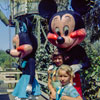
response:
<path id="1" fill-rule="evenodd" d="M 50 77 L 50 73 L 51 73 L 51 71 L 48 71 L 48 88 L 49 88 L 49 91 L 50 91 L 50 97 L 54 99 L 54 98 L 56 98 L 56 91 L 51 84 L 52 80 L 51 80 L 51 77 Z"/>

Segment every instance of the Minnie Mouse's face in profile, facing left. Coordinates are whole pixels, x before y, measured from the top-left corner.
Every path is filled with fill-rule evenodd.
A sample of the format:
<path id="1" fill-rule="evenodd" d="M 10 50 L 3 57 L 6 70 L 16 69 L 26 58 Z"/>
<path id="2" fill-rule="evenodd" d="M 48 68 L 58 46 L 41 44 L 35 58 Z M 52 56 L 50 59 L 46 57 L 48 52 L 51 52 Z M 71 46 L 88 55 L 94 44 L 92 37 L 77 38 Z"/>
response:
<path id="1" fill-rule="evenodd" d="M 35 39 L 35 38 L 34 38 Z M 31 55 L 33 46 L 27 33 L 19 33 L 13 38 L 14 49 L 7 50 L 12 57 L 25 58 Z"/>

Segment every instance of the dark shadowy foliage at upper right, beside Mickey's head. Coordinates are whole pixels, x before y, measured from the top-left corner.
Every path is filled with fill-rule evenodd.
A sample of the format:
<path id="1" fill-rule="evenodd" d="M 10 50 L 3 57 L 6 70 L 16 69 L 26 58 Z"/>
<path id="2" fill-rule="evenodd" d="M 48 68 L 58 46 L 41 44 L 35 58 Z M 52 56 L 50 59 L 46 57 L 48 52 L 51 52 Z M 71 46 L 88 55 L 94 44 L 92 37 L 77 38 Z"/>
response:
<path id="1" fill-rule="evenodd" d="M 93 43 L 100 38 L 100 1 L 95 0 L 93 8 L 83 17 L 88 38 Z M 89 32 L 90 31 L 90 32 Z"/>

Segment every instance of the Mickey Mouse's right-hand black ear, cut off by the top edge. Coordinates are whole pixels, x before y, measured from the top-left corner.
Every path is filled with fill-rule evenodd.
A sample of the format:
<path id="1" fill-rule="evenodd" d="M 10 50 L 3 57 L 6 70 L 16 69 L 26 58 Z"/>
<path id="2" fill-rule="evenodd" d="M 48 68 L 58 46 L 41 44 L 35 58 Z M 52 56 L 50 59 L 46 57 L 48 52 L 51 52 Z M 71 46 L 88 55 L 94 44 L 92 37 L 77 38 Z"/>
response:
<path id="1" fill-rule="evenodd" d="M 74 11 L 81 15 L 84 15 L 90 10 L 91 0 L 72 0 L 71 6 Z"/>

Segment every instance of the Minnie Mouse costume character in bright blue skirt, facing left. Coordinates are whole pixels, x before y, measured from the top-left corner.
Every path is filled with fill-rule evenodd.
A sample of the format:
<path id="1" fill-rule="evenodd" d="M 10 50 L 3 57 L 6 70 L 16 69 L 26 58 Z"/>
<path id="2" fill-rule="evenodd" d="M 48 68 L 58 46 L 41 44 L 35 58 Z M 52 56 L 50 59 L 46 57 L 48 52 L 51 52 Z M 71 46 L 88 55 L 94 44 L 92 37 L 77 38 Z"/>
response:
<path id="1" fill-rule="evenodd" d="M 6 52 L 12 57 L 19 57 L 21 59 L 21 65 L 18 68 L 22 71 L 22 76 L 12 95 L 16 96 L 15 100 L 21 100 L 21 98 L 30 99 L 30 95 L 40 95 L 40 85 L 35 79 L 35 52 L 37 50 L 35 35 L 29 30 L 27 32 L 20 32 L 14 36 L 13 45 L 15 48 L 8 49 Z"/>

